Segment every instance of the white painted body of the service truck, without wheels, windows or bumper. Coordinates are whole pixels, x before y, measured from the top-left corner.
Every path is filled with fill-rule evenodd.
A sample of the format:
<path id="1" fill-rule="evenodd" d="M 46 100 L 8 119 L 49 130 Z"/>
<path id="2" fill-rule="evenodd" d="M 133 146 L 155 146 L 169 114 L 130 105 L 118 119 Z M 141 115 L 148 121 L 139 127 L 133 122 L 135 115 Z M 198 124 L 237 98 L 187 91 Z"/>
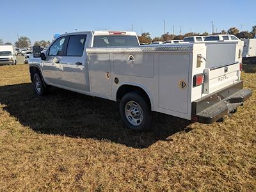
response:
<path id="1" fill-rule="evenodd" d="M 30 58 L 29 65 L 40 68 L 46 84 L 104 99 L 117 100 L 123 85 L 141 88 L 150 100 L 152 111 L 188 120 L 191 120 L 192 102 L 240 80 L 241 41 L 93 47 L 95 36 L 109 33 L 61 35 L 58 39 L 86 35 L 83 55 L 47 55 L 50 45 L 44 60 Z M 198 74 L 204 74 L 205 80 L 195 86 L 193 77 Z"/>

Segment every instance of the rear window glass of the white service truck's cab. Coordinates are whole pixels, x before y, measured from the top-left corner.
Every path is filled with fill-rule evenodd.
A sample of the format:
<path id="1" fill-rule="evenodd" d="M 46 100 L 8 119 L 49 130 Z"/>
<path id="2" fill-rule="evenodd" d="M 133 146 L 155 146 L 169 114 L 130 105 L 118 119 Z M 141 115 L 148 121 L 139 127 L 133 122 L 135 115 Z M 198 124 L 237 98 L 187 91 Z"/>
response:
<path id="1" fill-rule="evenodd" d="M 139 46 L 137 36 L 99 35 L 94 36 L 93 47 L 136 47 Z"/>

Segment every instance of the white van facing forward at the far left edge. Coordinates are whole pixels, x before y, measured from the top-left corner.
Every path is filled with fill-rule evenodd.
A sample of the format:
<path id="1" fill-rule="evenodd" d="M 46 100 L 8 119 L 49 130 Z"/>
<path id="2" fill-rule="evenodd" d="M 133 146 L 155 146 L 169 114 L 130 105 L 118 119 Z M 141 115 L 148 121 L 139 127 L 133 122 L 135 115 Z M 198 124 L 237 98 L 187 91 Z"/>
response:
<path id="1" fill-rule="evenodd" d="M 13 45 L 0 45 L 0 65 L 16 65 L 16 55 Z"/>

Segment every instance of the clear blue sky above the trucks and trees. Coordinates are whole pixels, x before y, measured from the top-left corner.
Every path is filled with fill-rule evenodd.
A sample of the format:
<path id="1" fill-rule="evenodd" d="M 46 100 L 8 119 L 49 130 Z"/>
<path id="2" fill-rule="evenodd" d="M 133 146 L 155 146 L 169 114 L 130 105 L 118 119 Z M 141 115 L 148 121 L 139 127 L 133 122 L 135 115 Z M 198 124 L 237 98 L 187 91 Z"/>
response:
<path id="1" fill-rule="evenodd" d="M 196 3 L 195 3 L 196 2 Z M 251 31 L 256 25 L 255 0 L 215 1 L 1 1 L 0 38 L 15 42 L 17 34 L 35 40 L 52 40 L 54 33 L 93 30 L 127 30 L 138 34 L 141 29 L 151 36 L 166 31 L 182 33 L 211 32 L 211 21 L 218 31 L 232 26 Z M 10 9 L 12 13 L 10 13 Z M 216 30 L 216 28 L 215 28 Z"/>

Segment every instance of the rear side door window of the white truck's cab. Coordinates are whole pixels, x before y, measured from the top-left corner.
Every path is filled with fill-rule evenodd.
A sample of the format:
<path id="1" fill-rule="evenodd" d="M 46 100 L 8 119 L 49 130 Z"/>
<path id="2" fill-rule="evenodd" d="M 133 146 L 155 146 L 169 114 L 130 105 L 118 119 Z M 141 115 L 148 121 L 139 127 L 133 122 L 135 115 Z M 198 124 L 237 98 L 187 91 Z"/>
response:
<path id="1" fill-rule="evenodd" d="M 86 35 L 71 35 L 68 41 L 67 56 L 83 56 Z"/>

